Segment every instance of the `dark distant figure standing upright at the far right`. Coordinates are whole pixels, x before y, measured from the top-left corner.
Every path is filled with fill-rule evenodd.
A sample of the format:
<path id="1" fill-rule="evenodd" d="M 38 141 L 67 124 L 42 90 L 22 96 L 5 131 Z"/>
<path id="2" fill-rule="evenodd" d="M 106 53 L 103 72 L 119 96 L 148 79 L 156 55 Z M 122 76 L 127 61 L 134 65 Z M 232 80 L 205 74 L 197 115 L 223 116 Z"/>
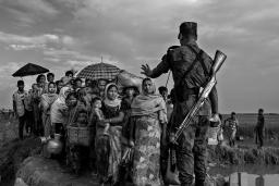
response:
<path id="1" fill-rule="evenodd" d="M 264 146 L 264 128 L 265 128 L 265 116 L 264 109 L 258 109 L 257 125 L 256 125 L 256 144 L 258 148 Z"/>

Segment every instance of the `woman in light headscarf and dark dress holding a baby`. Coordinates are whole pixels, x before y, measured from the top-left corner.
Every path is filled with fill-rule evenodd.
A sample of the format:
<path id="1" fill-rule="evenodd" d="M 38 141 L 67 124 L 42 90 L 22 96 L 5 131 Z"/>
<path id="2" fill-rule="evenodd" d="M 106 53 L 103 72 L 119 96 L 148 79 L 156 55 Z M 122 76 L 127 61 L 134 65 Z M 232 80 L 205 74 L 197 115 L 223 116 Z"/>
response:
<path id="1" fill-rule="evenodd" d="M 116 84 L 108 84 L 105 89 L 105 100 L 101 107 L 105 120 L 97 122 L 96 159 L 97 174 L 100 184 L 110 182 L 119 184 L 119 163 L 121 160 L 121 131 L 124 113 L 120 110 L 121 100 L 118 98 Z M 104 135 L 105 125 L 109 123 L 108 135 Z"/>

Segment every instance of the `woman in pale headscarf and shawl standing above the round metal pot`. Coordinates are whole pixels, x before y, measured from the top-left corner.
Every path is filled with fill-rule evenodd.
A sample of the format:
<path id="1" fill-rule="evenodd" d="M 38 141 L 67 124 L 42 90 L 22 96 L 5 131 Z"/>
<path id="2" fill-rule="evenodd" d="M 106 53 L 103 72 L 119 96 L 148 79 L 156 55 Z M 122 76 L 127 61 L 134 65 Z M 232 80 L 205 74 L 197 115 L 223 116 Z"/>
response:
<path id="1" fill-rule="evenodd" d="M 45 137 L 50 136 L 51 122 L 50 122 L 50 107 L 57 100 L 56 84 L 50 82 L 48 84 L 48 94 L 41 95 L 40 107 L 43 110 L 43 125 Z"/>

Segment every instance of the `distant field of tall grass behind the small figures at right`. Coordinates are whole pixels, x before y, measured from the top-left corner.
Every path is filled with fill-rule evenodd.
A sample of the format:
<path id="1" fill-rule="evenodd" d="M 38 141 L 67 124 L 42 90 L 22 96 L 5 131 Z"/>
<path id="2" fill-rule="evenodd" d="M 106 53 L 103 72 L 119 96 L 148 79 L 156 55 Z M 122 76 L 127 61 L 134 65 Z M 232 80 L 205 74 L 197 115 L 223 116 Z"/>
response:
<path id="1" fill-rule="evenodd" d="M 225 114 L 223 119 L 230 115 Z M 240 123 L 239 135 L 245 137 L 254 136 L 254 127 L 257 123 L 257 114 L 236 114 Z M 265 114 L 265 137 L 279 139 L 279 114 Z"/>

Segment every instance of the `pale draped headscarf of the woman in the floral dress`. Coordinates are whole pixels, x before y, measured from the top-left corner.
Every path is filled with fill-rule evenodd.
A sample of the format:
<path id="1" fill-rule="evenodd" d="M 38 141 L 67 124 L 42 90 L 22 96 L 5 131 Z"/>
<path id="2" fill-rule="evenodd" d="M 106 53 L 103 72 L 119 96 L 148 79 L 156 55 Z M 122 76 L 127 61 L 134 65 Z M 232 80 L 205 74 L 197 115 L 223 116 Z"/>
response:
<path id="1" fill-rule="evenodd" d="M 153 92 L 148 94 L 143 89 L 143 84 L 146 80 L 150 80 L 153 83 Z M 156 87 L 151 79 L 145 78 L 142 84 L 142 94 L 134 98 L 131 109 L 132 116 L 134 115 L 149 115 L 151 113 L 163 111 L 167 114 L 166 103 L 160 95 L 156 95 Z"/>

